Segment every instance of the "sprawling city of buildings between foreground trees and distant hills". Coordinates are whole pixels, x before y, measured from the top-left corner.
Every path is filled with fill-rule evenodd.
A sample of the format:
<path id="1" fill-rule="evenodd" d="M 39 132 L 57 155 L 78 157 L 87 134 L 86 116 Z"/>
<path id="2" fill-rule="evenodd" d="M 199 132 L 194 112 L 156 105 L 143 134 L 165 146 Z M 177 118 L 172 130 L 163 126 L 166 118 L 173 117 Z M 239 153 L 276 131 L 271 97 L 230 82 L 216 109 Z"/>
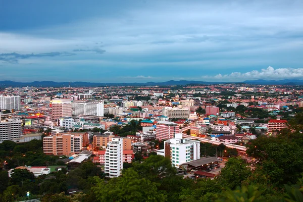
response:
<path id="1" fill-rule="evenodd" d="M 89 176 L 124 178 L 131 175 L 127 173 L 130 168 L 147 169 L 145 162 L 151 164 L 145 166 L 168 170 L 145 170 L 144 175 L 156 172 L 157 178 L 162 172 L 171 172 L 169 175 L 180 180 L 210 186 L 219 186 L 217 180 L 230 180 L 224 182 L 228 187 L 233 183 L 241 185 L 247 180 L 245 177 L 253 177 L 259 166 L 266 167 L 261 161 L 276 161 L 280 157 L 275 152 L 280 149 L 280 155 L 297 155 L 287 157 L 293 161 L 289 166 L 276 162 L 276 169 L 297 176 L 303 169 L 297 159 L 303 158 L 297 142 L 303 132 L 302 86 L 27 86 L 3 87 L 1 94 L 0 165 L 3 179 L 8 179 L 3 187 L 9 185 L 9 180 L 16 183 L 11 185 L 15 188 L 2 191 L 11 191 L 11 198 L 29 189 L 30 194 L 44 199 L 61 194 L 60 197 L 75 201 L 74 197 L 94 200 L 88 197 L 98 194 L 87 191 L 105 185 L 88 185 Z M 297 142 L 291 145 L 300 148 L 289 150 L 289 141 Z M 259 146 L 274 147 L 272 151 L 262 151 L 257 149 Z M 164 165 L 158 161 L 166 167 L 162 168 Z M 236 172 L 234 167 L 244 173 Z M 80 177 L 78 172 L 84 173 Z M 239 179 L 221 179 L 226 172 L 239 174 Z M 65 175 L 64 186 L 57 187 L 57 183 L 62 183 L 58 175 Z M 271 173 L 267 175 L 270 177 Z M 19 178 L 26 184 L 20 185 Z M 274 182 L 285 183 L 280 179 Z M 49 189 L 43 183 L 54 183 L 56 187 Z M 76 193 L 80 195 L 74 196 Z M 163 198 L 157 200 L 166 200 L 167 196 L 160 196 Z"/>

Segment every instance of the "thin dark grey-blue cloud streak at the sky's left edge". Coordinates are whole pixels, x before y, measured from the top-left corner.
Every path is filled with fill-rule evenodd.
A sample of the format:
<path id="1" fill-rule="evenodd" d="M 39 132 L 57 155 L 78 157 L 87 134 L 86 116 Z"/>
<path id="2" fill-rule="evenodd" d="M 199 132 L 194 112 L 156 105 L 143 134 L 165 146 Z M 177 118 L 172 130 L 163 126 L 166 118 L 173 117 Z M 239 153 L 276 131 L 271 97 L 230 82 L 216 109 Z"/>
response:
<path id="1" fill-rule="evenodd" d="M 2 53 L 0 54 L 0 61 L 8 63 L 18 63 L 20 59 L 27 58 L 42 58 L 42 57 L 56 57 L 56 56 L 73 56 L 72 53 L 60 53 L 60 52 L 51 52 L 51 53 L 41 53 L 41 54 L 18 54 L 18 53 Z"/>

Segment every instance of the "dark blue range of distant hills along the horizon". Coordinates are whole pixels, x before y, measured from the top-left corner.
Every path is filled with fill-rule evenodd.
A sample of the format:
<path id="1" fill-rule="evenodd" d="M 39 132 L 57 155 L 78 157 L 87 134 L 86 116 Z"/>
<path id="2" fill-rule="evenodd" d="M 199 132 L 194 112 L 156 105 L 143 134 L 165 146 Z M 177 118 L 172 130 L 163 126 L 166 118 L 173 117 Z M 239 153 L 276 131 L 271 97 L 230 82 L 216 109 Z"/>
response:
<path id="1" fill-rule="evenodd" d="M 15 81 L 0 81 L 0 87 L 98 87 L 98 86 L 155 86 L 155 85 L 188 85 L 188 84 L 218 84 L 218 83 L 227 83 L 227 82 L 206 82 L 206 81 L 165 81 L 165 82 L 147 82 L 147 83 L 91 83 L 91 82 L 55 82 L 55 81 L 33 81 L 33 82 L 15 82 Z M 295 79 L 284 79 L 284 80 L 247 80 L 243 82 L 234 82 L 234 83 L 246 83 L 246 84 L 255 84 L 255 85 L 303 85 L 303 80 Z"/>

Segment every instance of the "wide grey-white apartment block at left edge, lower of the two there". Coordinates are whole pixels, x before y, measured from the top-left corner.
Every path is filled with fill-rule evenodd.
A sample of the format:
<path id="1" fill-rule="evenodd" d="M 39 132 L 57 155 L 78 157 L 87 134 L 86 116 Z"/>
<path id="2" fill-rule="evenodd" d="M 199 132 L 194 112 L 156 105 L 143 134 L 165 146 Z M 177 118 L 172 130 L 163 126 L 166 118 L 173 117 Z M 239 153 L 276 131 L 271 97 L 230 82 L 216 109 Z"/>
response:
<path id="1" fill-rule="evenodd" d="M 14 138 L 20 138 L 21 121 L 19 119 L 6 119 L 0 122 L 0 143 L 4 140 L 12 140 Z"/>

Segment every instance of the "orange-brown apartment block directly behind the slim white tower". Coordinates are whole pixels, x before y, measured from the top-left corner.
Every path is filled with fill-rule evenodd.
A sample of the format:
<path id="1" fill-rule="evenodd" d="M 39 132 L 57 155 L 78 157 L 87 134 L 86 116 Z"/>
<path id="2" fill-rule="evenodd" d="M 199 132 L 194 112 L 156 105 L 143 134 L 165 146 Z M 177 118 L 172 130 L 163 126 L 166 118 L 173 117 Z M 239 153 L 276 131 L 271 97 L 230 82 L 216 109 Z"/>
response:
<path id="1" fill-rule="evenodd" d="M 93 146 L 99 148 L 105 148 L 115 135 L 94 135 L 93 136 Z M 123 150 L 131 149 L 131 139 L 127 137 L 121 137 Z"/>

